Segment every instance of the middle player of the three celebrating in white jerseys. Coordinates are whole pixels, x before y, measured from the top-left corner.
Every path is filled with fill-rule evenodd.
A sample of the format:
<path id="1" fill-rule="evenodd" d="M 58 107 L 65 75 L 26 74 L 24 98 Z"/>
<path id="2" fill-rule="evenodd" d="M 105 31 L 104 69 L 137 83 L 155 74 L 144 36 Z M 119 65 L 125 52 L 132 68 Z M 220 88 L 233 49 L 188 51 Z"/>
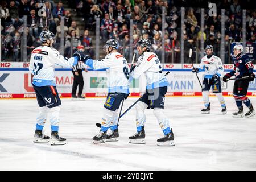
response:
<path id="1" fill-rule="evenodd" d="M 107 53 L 105 59 L 93 60 L 89 56 L 85 59 L 85 64 L 90 68 L 105 68 L 107 74 L 108 96 L 104 104 L 100 133 L 93 137 L 93 143 L 117 141 L 119 137 L 118 109 L 121 102 L 129 96 L 129 67 L 118 49 L 117 40 L 110 39 L 104 46 Z M 109 128 L 110 133 L 107 134 Z"/>

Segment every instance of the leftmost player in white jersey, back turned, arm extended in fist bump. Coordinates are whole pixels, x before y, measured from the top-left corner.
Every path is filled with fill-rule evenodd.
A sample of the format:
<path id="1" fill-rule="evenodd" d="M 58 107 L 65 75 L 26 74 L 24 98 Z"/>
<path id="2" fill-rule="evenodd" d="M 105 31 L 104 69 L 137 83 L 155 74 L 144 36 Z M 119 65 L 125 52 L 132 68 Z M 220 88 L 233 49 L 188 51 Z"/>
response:
<path id="1" fill-rule="evenodd" d="M 49 142 L 51 145 L 62 145 L 66 139 L 59 136 L 60 97 L 56 89 L 54 77 L 55 64 L 71 68 L 77 64 L 81 56 L 79 53 L 71 58 L 63 57 L 59 51 L 52 47 L 55 35 L 51 31 L 42 31 L 40 34 L 42 46 L 36 47 L 31 54 L 29 70 L 33 75 L 32 85 L 40 111 L 36 118 L 36 131 L 34 142 Z M 47 115 L 51 122 L 51 138 L 43 134 Z"/>

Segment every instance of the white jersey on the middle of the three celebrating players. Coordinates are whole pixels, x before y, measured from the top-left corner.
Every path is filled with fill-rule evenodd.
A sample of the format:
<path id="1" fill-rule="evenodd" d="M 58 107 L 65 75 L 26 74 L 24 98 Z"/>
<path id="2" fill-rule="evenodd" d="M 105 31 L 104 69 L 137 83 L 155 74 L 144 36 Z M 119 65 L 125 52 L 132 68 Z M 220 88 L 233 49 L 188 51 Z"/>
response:
<path id="1" fill-rule="evenodd" d="M 112 52 L 105 59 L 88 59 L 86 63 L 92 69 L 106 69 L 108 92 L 129 92 L 129 67 L 123 55 Z"/>

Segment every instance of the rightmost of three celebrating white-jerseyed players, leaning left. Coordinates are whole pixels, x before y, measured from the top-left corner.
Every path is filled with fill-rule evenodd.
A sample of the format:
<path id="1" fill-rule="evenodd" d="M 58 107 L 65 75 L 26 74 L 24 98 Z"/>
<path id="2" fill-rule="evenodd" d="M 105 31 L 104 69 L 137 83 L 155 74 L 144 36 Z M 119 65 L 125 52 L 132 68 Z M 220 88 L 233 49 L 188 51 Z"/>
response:
<path id="1" fill-rule="evenodd" d="M 151 42 L 148 39 L 141 39 L 136 44 L 139 55 L 138 65 L 132 67 L 131 77 L 139 78 L 142 74 L 146 76 L 146 93 L 136 107 L 137 133 L 129 137 L 130 143 L 146 143 L 144 124 L 146 122 L 145 109 L 154 109 L 154 115 L 164 133 L 164 137 L 157 140 L 158 146 L 175 146 L 174 133 L 170 129 L 169 119 L 164 115 L 164 97 L 167 92 L 168 81 L 158 56 L 150 51 Z"/>

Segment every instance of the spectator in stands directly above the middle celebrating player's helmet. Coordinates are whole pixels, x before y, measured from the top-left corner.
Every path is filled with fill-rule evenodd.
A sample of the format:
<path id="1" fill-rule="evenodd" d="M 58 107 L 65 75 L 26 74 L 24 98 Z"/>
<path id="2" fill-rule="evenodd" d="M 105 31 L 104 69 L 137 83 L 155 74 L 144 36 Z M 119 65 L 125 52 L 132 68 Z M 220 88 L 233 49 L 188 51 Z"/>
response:
<path id="1" fill-rule="evenodd" d="M 113 22 L 109 19 L 109 14 L 105 13 L 104 19 L 101 20 L 101 36 L 103 42 L 109 39 L 109 34 L 113 30 Z"/>

